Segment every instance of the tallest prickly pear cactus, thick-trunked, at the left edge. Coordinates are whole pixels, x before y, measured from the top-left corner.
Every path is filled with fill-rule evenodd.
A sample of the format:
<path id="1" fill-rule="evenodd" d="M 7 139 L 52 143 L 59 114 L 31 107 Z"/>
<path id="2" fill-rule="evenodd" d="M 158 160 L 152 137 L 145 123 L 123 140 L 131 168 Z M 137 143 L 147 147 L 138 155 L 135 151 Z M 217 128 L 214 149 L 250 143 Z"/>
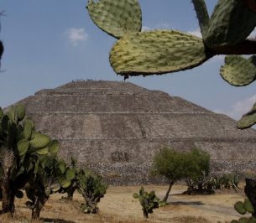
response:
<path id="1" fill-rule="evenodd" d="M 48 153 L 55 154 L 59 150 L 58 141 L 36 132 L 33 119 L 24 117 L 23 105 L 19 105 L 17 109 L 11 106 L 6 113 L 0 108 L 3 212 L 14 212 L 14 195 L 23 197 L 20 189 L 39 184 L 37 179 L 44 174 L 44 156 Z"/>

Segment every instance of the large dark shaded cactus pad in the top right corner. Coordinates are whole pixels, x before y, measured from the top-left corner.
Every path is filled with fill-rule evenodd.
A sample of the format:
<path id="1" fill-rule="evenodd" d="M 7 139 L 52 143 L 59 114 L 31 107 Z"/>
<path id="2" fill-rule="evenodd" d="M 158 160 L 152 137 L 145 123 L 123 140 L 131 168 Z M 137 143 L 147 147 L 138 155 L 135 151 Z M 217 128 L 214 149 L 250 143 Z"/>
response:
<path id="1" fill-rule="evenodd" d="M 256 25 L 256 13 L 236 0 L 219 0 L 210 18 L 204 38 L 210 47 L 235 45 L 242 42 Z"/>

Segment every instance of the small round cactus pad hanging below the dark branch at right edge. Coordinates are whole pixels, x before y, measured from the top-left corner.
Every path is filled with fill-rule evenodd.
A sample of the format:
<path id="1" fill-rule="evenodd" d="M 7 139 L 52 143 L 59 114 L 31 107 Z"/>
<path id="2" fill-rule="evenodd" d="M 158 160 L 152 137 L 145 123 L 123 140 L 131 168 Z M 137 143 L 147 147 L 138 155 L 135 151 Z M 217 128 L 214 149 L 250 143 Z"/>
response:
<path id="1" fill-rule="evenodd" d="M 256 78 L 256 56 L 227 55 L 221 75 L 232 86 L 247 86 Z"/>

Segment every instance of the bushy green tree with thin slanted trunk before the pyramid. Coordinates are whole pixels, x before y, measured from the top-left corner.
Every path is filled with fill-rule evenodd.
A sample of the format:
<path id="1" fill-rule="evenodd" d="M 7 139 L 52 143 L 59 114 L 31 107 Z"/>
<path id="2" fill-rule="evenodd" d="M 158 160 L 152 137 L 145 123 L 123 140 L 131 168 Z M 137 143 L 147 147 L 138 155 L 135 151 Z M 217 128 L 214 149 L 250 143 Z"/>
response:
<path id="1" fill-rule="evenodd" d="M 154 155 L 154 163 L 149 170 L 151 175 L 165 176 L 169 188 L 165 194 L 167 201 L 170 189 L 180 179 L 198 179 L 202 174 L 209 173 L 210 156 L 200 149 L 193 148 L 190 153 L 180 153 L 172 148 L 163 148 Z"/>

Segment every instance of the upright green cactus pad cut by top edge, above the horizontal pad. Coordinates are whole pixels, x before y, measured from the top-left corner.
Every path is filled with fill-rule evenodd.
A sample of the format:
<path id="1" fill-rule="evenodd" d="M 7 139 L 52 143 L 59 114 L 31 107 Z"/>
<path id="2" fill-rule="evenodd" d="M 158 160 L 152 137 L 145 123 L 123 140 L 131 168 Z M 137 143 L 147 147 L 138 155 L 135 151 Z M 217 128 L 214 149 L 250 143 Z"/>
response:
<path id="1" fill-rule="evenodd" d="M 87 8 L 92 21 L 117 39 L 125 34 L 141 31 L 142 15 L 138 0 L 89 1 Z"/>

